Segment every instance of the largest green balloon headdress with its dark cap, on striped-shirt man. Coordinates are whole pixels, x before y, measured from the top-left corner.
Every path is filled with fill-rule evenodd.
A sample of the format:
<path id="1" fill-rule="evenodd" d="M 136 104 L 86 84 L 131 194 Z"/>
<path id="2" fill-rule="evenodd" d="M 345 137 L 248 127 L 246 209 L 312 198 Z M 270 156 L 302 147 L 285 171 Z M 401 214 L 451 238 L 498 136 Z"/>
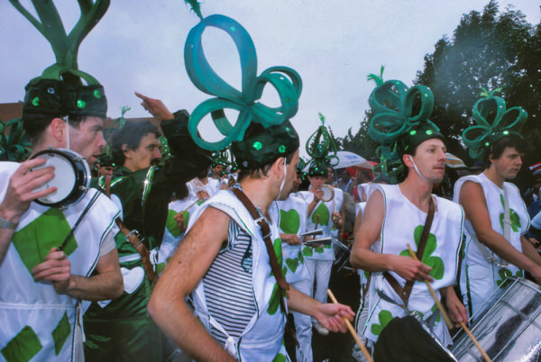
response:
<path id="1" fill-rule="evenodd" d="M 215 27 L 229 34 L 238 50 L 242 69 L 242 90 L 230 86 L 219 77 L 206 60 L 201 36 L 206 27 Z M 298 73 L 287 67 L 271 67 L 257 76 L 257 56 L 252 38 L 240 23 L 224 15 L 211 15 L 201 20 L 188 33 L 184 48 L 188 77 L 199 90 L 214 98 L 197 105 L 188 122 L 188 131 L 203 149 L 225 149 L 230 144 L 240 167 L 253 169 L 271 162 L 298 148 L 298 135 L 289 119 L 298 110 L 302 81 Z M 273 86 L 280 106 L 260 102 L 267 84 Z M 238 111 L 232 125 L 225 109 Z M 199 136 L 197 127 L 210 114 L 215 127 L 225 137 L 211 142 Z"/>

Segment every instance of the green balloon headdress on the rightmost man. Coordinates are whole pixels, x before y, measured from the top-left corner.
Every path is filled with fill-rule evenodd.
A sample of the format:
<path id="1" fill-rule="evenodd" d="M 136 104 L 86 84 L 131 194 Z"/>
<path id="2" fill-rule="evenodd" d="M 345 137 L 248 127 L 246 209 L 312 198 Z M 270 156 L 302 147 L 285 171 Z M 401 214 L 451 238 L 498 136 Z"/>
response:
<path id="1" fill-rule="evenodd" d="M 506 108 L 503 98 L 494 95 L 501 88 L 488 92 L 483 88 L 482 98 L 473 104 L 473 120 L 477 123 L 463 131 L 463 142 L 473 159 L 482 158 L 485 150 L 502 138 L 519 133 L 527 120 L 527 112 L 522 107 Z"/>

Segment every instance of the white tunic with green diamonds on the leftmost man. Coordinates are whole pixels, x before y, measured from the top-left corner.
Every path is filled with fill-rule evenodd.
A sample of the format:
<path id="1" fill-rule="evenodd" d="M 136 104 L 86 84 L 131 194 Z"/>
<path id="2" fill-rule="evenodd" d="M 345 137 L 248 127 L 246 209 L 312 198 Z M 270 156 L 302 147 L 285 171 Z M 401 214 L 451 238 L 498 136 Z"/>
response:
<path id="1" fill-rule="evenodd" d="M 0 162 L 0 200 L 4 200 L 9 178 L 20 164 Z M 50 284 L 34 282 L 30 270 L 43 261 L 50 248 L 59 247 L 77 222 L 93 195 L 60 212 L 59 209 L 32 203 L 23 214 L 0 266 L 0 350 L 2 357 L 49 361 L 78 360 L 74 352 L 82 346 L 74 339 L 76 323 L 89 302 L 80 303 L 65 294 L 57 294 Z M 119 210 L 105 195 L 100 195 L 68 242 L 65 252 L 71 262 L 71 274 L 90 276 L 99 258 L 105 235 L 118 232 L 115 218 Z M 81 305 L 82 304 L 82 305 Z M 0 357 L 1 358 L 1 357 Z"/>

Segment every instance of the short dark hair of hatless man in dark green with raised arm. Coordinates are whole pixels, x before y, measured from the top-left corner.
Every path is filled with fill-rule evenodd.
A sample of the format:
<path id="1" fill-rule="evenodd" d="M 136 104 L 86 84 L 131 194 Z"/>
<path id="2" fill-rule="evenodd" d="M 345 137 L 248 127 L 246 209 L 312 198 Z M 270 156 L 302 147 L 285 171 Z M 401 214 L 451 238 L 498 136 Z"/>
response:
<path id="1" fill-rule="evenodd" d="M 125 156 L 123 145 L 128 149 L 137 149 L 144 136 L 153 133 L 156 137 L 160 137 L 161 133 L 150 121 L 133 122 L 127 121 L 124 127 L 117 129 L 111 136 L 111 152 L 116 165 L 124 165 Z"/>

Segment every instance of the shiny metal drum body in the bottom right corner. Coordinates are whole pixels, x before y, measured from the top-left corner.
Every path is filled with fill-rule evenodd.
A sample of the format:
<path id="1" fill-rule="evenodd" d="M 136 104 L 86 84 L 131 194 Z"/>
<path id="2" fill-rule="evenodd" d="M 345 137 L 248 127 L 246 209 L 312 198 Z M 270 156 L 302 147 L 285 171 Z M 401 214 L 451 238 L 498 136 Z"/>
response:
<path id="1" fill-rule="evenodd" d="M 541 360 L 541 287 L 510 277 L 483 304 L 471 330 L 493 361 Z M 461 331 L 451 352 L 459 361 L 482 360 Z"/>

